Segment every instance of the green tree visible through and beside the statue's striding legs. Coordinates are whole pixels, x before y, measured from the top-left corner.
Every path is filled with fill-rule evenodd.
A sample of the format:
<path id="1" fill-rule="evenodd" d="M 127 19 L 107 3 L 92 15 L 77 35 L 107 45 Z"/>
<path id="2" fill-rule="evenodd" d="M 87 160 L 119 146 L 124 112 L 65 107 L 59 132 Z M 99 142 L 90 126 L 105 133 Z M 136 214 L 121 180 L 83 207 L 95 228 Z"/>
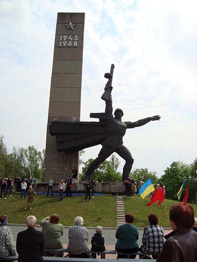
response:
<path id="1" fill-rule="evenodd" d="M 84 163 L 84 167 L 82 168 L 82 174 L 80 175 L 79 179 L 81 179 L 85 176 L 89 165 L 94 160 L 95 159 L 90 158 L 90 159 L 88 159 L 88 161 L 86 161 Z M 99 167 L 91 175 L 91 179 L 97 180 L 97 181 L 103 180 L 103 182 L 115 182 L 115 181 L 121 181 L 122 176 L 119 172 L 113 170 L 110 161 L 105 160 L 99 165 Z"/>

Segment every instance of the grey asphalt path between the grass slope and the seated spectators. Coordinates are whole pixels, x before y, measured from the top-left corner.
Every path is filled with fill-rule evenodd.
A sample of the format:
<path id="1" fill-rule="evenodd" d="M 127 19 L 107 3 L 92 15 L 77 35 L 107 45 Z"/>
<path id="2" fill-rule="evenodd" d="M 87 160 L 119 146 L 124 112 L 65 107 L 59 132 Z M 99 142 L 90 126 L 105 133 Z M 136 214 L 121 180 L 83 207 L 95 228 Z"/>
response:
<path id="1" fill-rule="evenodd" d="M 25 225 L 10 225 L 10 224 L 8 224 L 7 226 L 12 231 L 12 235 L 13 235 L 14 241 L 16 241 L 17 234 L 19 232 L 24 231 L 24 230 L 27 229 L 27 226 L 25 226 Z M 64 235 L 62 237 L 63 244 L 68 244 L 68 229 L 69 229 L 69 227 L 64 227 Z M 87 229 L 89 231 L 88 244 L 91 244 L 91 239 L 92 239 L 92 236 L 95 233 L 95 228 L 87 227 Z M 36 226 L 36 230 L 41 231 L 42 228 L 40 226 Z M 103 236 L 105 238 L 105 245 L 115 245 L 116 240 L 117 240 L 116 237 L 115 237 L 116 230 L 117 230 L 116 228 L 103 228 L 102 229 L 102 234 L 103 234 Z M 171 230 L 169 230 L 169 229 L 164 229 L 164 235 L 166 233 L 169 233 L 170 231 Z M 139 232 L 138 244 L 141 245 L 143 229 L 138 229 L 138 232 Z"/>

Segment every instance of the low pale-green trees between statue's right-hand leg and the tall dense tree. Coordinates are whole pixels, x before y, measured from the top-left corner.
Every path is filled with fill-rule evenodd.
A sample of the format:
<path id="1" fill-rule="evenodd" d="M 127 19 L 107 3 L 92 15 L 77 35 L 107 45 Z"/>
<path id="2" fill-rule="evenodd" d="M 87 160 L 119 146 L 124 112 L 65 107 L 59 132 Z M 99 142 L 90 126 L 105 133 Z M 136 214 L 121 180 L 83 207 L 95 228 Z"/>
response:
<path id="1" fill-rule="evenodd" d="M 131 171 L 130 177 L 136 180 L 137 185 L 140 184 L 140 181 L 146 182 L 148 178 L 151 178 L 152 182 L 156 184 L 158 181 L 156 174 L 156 172 L 148 172 L 147 168 L 136 168 Z"/>

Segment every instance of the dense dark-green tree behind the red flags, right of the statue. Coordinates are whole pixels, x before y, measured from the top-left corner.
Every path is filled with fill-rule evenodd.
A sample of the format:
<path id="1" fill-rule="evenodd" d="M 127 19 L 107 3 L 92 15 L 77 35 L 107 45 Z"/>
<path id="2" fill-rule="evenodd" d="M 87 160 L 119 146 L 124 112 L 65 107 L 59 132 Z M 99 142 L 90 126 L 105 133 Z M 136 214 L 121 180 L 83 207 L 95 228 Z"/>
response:
<path id="1" fill-rule="evenodd" d="M 189 180 L 190 165 L 177 161 L 172 162 L 169 168 L 166 168 L 164 175 L 158 180 L 165 186 L 165 196 L 171 200 L 177 200 L 177 193 L 183 183 L 183 179 Z"/>

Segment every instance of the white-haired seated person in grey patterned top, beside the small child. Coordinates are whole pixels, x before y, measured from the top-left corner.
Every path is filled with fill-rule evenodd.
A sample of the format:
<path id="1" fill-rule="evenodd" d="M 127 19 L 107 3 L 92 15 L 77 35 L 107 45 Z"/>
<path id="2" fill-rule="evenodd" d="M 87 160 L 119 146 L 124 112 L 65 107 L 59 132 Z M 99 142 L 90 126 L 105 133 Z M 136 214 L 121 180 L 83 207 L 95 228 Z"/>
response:
<path id="1" fill-rule="evenodd" d="M 89 258 L 86 251 L 89 250 L 88 239 L 89 232 L 83 226 L 83 218 L 81 216 L 75 217 L 74 226 L 68 230 L 68 246 L 67 250 L 69 258 Z"/>

